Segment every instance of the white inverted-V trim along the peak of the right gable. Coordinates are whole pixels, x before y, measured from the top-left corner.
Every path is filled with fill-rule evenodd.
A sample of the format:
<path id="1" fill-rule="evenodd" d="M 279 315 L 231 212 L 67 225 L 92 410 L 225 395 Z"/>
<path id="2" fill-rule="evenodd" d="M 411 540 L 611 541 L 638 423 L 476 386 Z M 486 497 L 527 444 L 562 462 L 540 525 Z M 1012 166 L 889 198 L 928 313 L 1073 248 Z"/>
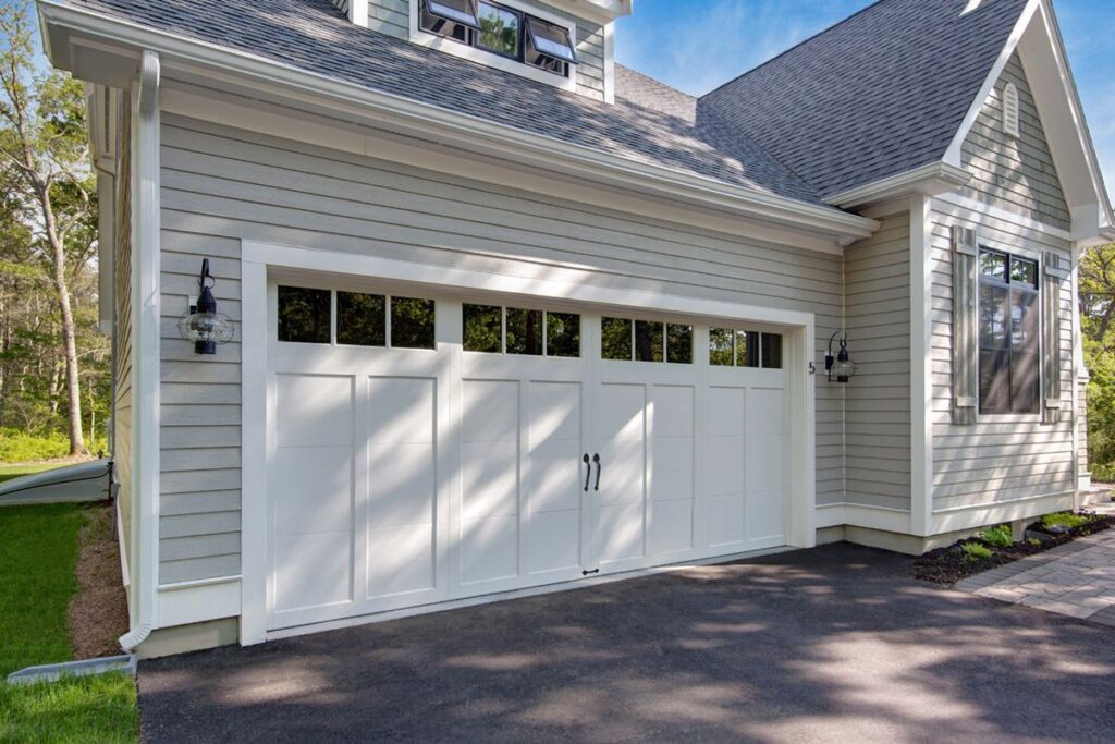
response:
<path id="1" fill-rule="evenodd" d="M 1079 241 L 1106 235 L 1106 230 L 1115 226 L 1115 218 L 1049 0 L 1027 3 L 946 152 L 944 162 L 961 166 L 963 144 L 1016 51 L 1026 68 L 1065 199 L 1073 211 L 1073 235 Z"/>

